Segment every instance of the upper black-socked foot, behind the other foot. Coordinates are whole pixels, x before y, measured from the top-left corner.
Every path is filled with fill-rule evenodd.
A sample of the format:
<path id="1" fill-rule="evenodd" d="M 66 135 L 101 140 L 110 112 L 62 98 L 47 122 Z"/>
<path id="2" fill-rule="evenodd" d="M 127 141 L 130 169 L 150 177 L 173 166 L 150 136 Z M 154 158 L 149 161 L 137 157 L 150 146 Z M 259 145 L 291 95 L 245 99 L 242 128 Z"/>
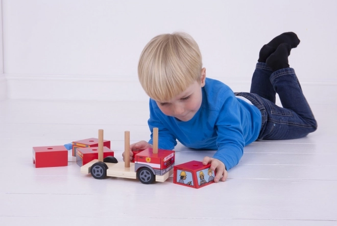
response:
<path id="1" fill-rule="evenodd" d="M 300 44 L 300 40 L 294 32 L 285 32 L 279 36 L 276 36 L 268 44 L 263 45 L 259 53 L 259 59 L 257 62 L 266 63 L 267 58 L 275 52 L 277 47 L 282 44 L 287 43 L 291 48 L 296 48 Z"/>

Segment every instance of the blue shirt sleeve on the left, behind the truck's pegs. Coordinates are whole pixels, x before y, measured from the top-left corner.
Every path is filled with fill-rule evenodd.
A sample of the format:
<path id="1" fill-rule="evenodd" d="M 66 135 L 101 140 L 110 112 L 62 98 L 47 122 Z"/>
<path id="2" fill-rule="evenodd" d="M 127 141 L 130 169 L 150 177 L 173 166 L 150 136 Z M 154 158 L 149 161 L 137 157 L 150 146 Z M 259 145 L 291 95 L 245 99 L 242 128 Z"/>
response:
<path id="1" fill-rule="evenodd" d="M 177 145 L 176 137 L 170 133 L 165 127 L 164 123 L 160 120 L 161 111 L 158 106 L 154 106 L 150 99 L 150 119 L 148 120 L 149 128 L 151 131 L 151 139 L 149 144 L 153 144 L 153 128 L 158 128 L 158 148 L 164 150 L 173 150 Z"/>

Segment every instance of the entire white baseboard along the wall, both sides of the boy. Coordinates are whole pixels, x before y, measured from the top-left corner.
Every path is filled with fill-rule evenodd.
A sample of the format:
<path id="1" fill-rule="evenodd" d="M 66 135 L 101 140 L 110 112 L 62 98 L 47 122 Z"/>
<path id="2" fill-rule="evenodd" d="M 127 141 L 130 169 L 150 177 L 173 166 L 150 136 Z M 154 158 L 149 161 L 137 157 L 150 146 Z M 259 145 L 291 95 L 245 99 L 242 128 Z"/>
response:
<path id="1" fill-rule="evenodd" d="M 219 78 L 218 78 L 219 79 Z M 0 76 L 0 97 L 9 99 L 148 101 L 136 76 L 27 75 Z M 249 92 L 250 80 L 225 82 L 234 92 Z M 309 103 L 336 103 L 337 80 L 301 82 Z"/>

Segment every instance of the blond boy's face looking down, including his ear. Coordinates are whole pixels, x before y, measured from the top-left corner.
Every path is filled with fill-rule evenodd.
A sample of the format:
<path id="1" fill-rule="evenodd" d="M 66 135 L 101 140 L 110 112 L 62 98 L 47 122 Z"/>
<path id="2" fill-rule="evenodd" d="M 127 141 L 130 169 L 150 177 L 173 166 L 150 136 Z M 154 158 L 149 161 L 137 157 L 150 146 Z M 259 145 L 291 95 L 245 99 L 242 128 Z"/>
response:
<path id="1" fill-rule="evenodd" d="M 159 109 L 166 115 L 187 122 L 199 110 L 202 102 L 201 88 L 205 86 L 206 69 L 201 71 L 201 81 L 195 81 L 184 92 L 167 102 L 158 102 Z"/>

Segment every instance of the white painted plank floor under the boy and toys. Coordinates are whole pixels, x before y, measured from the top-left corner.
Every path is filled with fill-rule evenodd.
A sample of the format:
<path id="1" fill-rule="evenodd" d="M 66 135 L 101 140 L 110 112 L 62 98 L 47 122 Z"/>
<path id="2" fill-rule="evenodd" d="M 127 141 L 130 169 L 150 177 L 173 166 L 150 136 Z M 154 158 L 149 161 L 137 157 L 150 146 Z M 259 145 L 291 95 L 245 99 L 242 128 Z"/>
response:
<path id="1" fill-rule="evenodd" d="M 172 178 L 95 180 L 71 161 L 33 165 L 32 147 L 97 137 L 98 129 L 122 161 L 125 130 L 132 143 L 149 138 L 147 102 L 0 102 L 0 225 L 337 225 L 337 105 L 311 107 L 315 133 L 255 142 L 226 182 L 192 189 Z M 176 164 L 214 153 L 176 151 Z"/>

